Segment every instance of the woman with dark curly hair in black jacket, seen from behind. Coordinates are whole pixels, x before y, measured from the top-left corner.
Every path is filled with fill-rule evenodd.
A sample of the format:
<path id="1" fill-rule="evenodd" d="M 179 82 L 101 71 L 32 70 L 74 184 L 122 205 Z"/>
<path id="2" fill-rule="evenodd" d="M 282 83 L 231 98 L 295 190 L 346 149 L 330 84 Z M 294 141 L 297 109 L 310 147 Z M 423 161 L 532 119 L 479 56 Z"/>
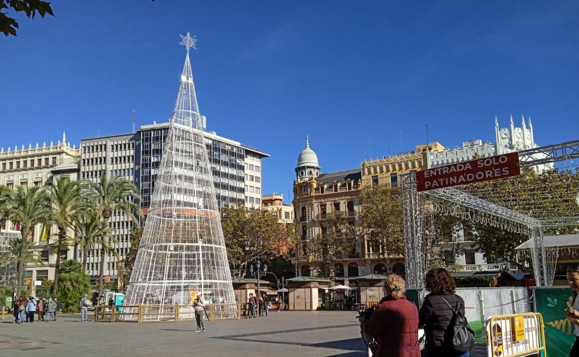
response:
<path id="1" fill-rule="evenodd" d="M 418 316 L 419 326 L 424 327 L 426 334 L 424 347 L 426 355 L 428 357 L 468 357 L 468 352 L 453 355 L 448 348 L 445 348 L 447 345 L 445 332 L 453 318 L 452 307 L 460 306 L 460 312 L 464 315 L 464 300 L 455 294 L 455 280 L 446 269 L 436 268 L 426 274 L 424 284 L 430 293 L 424 297 Z"/>

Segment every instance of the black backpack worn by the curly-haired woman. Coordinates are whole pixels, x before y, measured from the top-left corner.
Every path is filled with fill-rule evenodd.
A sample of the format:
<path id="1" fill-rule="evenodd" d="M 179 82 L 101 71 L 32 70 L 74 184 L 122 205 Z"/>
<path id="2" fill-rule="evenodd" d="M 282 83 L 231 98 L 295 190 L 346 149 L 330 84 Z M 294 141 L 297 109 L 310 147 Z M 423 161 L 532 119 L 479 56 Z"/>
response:
<path id="1" fill-rule="evenodd" d="M 467 318 L 460 312 L 461 303 L 452 307 L 444 297 L 442 300 L 452 309 L 453 315 L 444 336 L 444 347 L 452 354 L 464 354 L 474 347 L 474 331 L 468 326 Z"/>

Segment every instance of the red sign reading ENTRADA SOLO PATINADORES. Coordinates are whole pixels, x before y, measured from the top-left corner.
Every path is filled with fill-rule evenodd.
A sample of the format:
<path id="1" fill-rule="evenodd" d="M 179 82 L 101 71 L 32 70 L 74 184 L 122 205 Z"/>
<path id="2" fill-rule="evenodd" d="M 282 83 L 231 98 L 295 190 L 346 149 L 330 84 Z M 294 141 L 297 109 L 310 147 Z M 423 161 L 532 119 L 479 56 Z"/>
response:
<path id="1" fill-rule="evenodd" d="M 519 154 L 508 153 L 416 172 L 416 191 L 518 176 Z"/>

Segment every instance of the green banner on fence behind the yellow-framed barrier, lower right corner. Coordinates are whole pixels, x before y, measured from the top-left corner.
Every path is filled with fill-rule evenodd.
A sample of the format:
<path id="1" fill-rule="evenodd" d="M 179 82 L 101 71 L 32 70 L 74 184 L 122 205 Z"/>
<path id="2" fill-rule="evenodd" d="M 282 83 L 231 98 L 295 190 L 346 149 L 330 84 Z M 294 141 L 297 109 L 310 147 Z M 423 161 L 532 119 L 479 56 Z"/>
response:
<path id="1" fill-rule="evenodd" d="M 575 325 L 567 318 L 565 309 L 571 306 L 573 295 L 569 287 L 535 288 L 537 313 L 545 322 L 547 356 L 568 357 L 575 341 Z"/>

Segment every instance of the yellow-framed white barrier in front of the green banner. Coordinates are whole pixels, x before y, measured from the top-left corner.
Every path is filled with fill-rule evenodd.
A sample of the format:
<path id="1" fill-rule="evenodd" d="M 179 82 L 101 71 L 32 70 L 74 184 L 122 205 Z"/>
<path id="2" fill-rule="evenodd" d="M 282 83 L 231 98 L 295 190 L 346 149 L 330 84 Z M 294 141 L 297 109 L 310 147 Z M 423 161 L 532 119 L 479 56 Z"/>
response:
<path id="1" fill-rule="evenodd" d="M 538 313 L 497 315 L 486 321 L 486 344 L 490 357 L 522 357 L 545 349 L 545 326 Z"/>

